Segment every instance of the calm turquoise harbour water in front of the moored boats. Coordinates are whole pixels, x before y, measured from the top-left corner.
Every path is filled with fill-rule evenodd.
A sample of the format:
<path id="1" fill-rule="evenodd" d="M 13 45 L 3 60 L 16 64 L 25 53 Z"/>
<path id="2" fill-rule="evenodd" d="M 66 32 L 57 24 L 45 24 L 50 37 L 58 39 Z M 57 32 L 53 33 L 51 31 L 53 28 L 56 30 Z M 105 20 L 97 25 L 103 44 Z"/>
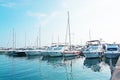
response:
<path id="1" fill-rule="evenodd" d="M 0 80 L 110 80 L 109 65 L 107 59 L 0 55 Z"/>

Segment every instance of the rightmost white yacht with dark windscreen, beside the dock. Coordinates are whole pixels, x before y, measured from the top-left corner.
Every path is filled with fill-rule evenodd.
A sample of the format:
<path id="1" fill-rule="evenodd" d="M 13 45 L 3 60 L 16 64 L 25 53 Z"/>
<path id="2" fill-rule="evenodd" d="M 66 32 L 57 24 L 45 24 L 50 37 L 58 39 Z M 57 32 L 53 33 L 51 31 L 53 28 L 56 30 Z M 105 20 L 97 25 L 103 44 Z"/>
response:
<path id="1" fill-rule="evenodd" d="M 106 44 L 104 52 L 106 58 L 118 58 L 120 55 L 120 48 L 117 44 Z"/>

